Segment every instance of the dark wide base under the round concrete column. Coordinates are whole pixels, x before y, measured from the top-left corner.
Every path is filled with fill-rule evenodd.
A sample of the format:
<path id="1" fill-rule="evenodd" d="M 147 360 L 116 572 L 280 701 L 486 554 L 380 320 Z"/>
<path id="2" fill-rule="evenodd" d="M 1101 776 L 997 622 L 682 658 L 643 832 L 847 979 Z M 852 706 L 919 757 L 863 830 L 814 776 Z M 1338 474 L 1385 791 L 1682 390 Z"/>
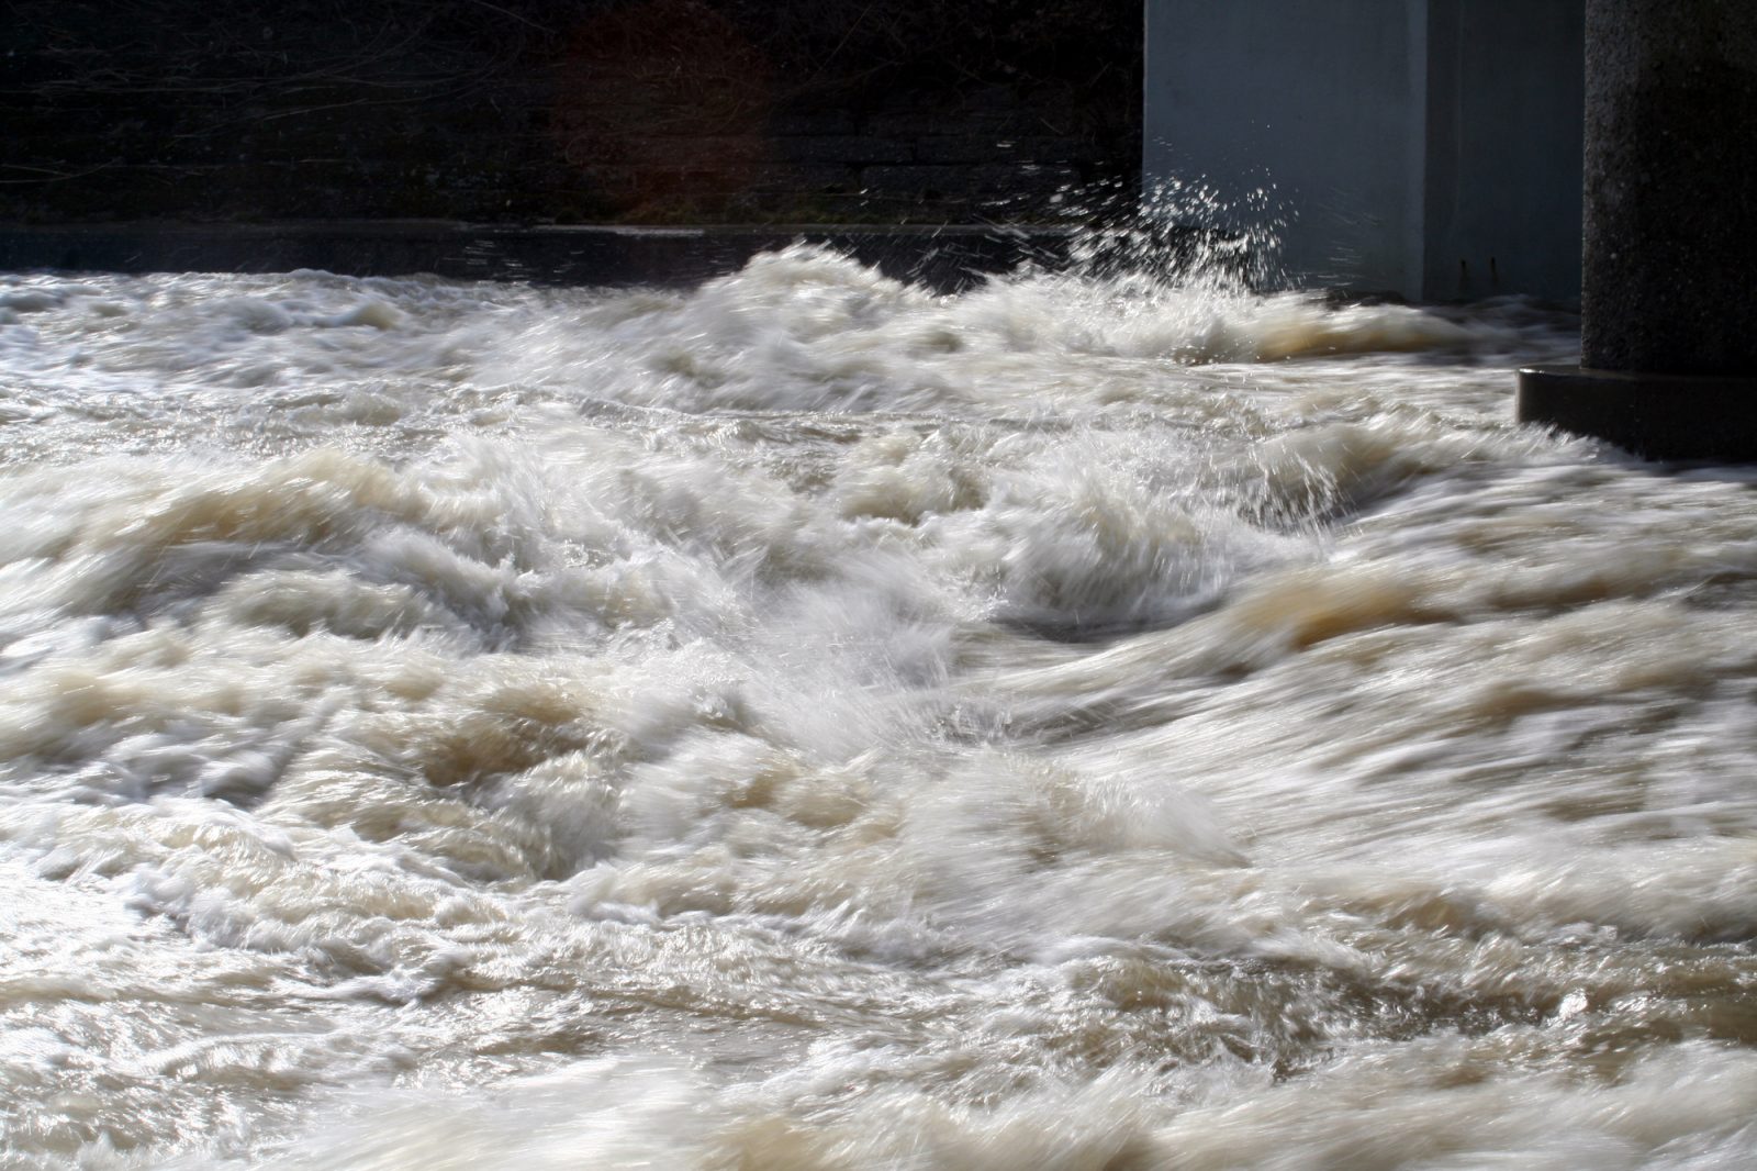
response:
<path id="1" fill-rule="evenodd" d="M 1757 461 L 1757 376 L 1530 366 L 1520 371 L 1513 410 L 1520 422 L 1588 434 L 1643 459 Z"/>

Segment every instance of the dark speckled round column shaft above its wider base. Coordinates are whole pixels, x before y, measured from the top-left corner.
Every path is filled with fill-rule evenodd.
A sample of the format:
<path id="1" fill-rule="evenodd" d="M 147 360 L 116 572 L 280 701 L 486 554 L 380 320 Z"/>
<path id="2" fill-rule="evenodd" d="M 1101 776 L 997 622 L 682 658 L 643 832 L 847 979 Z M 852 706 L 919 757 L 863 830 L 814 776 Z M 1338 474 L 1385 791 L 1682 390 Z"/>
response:
<path id="1" fill-rule="evenodd" d="M 1757 2 L 1587 21 L 1581 362 L 1757 375 Z"/>

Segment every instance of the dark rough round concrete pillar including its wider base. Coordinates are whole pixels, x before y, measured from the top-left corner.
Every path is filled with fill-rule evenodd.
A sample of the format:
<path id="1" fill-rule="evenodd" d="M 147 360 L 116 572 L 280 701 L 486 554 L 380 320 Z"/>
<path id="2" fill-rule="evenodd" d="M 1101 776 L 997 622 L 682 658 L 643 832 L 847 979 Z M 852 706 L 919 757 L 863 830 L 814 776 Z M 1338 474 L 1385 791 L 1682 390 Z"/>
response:
<path id="1" fill-rule="evenodd" d="M 1518 417 L 1757 459 L 1757 0 L 1587 0 L 1581 366 Z"/>

